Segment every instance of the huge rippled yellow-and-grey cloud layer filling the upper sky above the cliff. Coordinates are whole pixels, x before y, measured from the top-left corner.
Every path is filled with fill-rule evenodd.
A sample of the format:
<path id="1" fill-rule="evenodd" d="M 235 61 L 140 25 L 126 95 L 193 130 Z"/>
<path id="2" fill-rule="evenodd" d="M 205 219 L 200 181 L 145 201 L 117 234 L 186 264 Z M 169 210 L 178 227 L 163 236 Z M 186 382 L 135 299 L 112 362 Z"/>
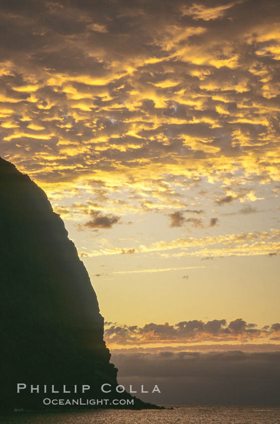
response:
<path id="1" fill-rule="evenodd" d="M 122 212 L 278 181 L 278 2 L 251 3 L 4 2 L 1 154 L 48 194 L 122 190 Z"/>

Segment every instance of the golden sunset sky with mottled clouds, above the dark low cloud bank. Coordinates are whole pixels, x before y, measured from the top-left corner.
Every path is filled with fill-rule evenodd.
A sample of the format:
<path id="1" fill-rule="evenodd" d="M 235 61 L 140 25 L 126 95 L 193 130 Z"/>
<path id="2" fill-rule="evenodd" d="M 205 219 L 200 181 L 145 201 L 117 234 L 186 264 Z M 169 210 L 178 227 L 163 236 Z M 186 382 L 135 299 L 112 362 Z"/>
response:
<path id="1" fill-rule="evenodd" d="M 276 350 L 279 1 L 4 1 L 0 17 L 0 156 L 64 220 L 108 346 Z"/>

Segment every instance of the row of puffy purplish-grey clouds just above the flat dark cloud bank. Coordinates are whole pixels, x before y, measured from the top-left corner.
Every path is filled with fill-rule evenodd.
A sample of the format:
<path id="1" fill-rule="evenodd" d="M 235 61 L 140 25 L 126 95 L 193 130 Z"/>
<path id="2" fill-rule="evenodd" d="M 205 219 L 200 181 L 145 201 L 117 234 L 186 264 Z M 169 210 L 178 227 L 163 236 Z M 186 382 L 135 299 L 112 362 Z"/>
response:
<path id="1" fill-rule="evenodd" d="M 131 330 L 133 328 L 133 331 Z M 181 321 L 175 325 L 148 323 L 143 327 L 113 325 L 105 330 L 104 337 L 109 345 L 146 345 L 155 343 L 197 343 L 227 341 L 257 341 L 280 336 L 279 324 L 268 328 L 257 328 L 242 318 L 236 318 L 227 324 L 225 319 L 204 322 L 202 320 Z"/>

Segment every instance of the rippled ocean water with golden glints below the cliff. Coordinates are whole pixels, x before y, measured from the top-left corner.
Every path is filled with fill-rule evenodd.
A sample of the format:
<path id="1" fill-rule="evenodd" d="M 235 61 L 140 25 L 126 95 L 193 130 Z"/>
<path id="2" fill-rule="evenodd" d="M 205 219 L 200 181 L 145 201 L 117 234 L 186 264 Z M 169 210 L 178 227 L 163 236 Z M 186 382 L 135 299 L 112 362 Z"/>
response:
<path id="1" fill-rule="evenodd" d="M 170 408 L 168 406 L 167 408 Z M 1 424 L 280 424 L 280 407 L 173 406 L 173 410 L 17 412 Z"/>

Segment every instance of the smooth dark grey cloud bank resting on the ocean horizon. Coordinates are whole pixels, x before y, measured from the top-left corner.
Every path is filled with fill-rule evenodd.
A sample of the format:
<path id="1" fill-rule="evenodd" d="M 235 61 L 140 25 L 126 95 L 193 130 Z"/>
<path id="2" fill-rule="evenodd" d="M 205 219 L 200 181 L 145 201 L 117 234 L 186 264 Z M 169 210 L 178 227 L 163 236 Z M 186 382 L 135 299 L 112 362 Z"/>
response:
<path id="1" fill-rule="evenodd" d="M 154 384 L 158 385 L 161 394 L 141 395 L 145 401 L 167 405 L 279 405 L 280 352 L 173 353 L 166 350 L 157 354 L 113 353 L 112 361 L 119 369 L 120 384 L 126 387 L 132 384 L 139 391 L 143 384 L 150 392 Z M 248 407 L 239 408 L 238 421 L 242 423 Z M 270 411 L 263 412 L 264 420 Z M 201 407 L 201 416 L 204 413 Z M 256 423 L 260 414 L 258 410 Z M 212 409 L 204 422 L 211 417 Z M 278 411 L 275 411 L 272 422 L 277 421 Z"/>

